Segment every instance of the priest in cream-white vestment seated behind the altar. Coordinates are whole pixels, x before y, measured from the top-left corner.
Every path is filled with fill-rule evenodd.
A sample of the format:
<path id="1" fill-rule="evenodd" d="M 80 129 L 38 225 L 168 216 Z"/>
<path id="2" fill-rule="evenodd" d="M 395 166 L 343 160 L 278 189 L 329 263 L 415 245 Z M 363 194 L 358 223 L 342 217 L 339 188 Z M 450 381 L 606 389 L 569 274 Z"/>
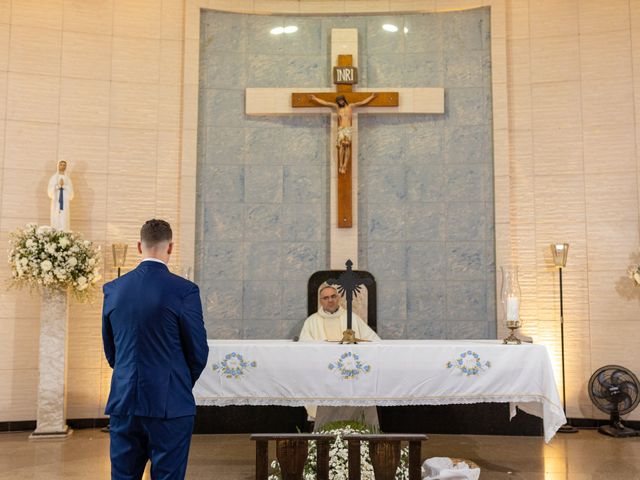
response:
<path id="1" fill-rule="evenodd" d="M 347 311 L 340 306 L 338 291 L 328 284 L 322 284 L 318 290 L 318 312 L 307 318 L 300 332 L 301 342 L 342 340 L 342 333 L 347 329 Z M 351 328 L 359 340 L 380 341 L 380 337 L 364 320 L 352 313 Z M 306 407 L 309 418 L 315 420 L 314 430 L 338 420 L 362 421 L 366 425 L 379 427 L 376 407 Z"/>

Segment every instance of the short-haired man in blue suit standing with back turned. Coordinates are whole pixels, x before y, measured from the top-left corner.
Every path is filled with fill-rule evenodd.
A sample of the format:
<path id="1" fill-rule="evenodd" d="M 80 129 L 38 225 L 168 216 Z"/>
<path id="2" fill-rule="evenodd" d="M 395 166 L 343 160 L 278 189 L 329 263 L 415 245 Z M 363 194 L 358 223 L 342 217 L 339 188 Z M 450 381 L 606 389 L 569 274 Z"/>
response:
<path id="1" fill-rule="evenodd" d="M 111 478 L 183 479 L 196 413 L 191 390 L 209 347 L 198 286 L 169 272 L 171 226 L 149 220 L 140 231 L 138 267 L 105 284 L 102 340 L 113 368 Z"/>

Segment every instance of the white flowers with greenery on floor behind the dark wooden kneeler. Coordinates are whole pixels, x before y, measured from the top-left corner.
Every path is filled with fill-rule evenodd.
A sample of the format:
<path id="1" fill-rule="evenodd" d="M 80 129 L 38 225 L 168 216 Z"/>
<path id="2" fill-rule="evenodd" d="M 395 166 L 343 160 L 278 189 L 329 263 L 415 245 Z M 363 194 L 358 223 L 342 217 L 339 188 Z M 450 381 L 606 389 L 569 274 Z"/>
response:
<path id="1" fill-rule="evenodd" d="M 332 422 L 324 426 L 320 432 L 330 433 L 336 439 L 329 447 L 329 478 L 331 480 L 348 480 L 349 478 L 349 458 L 347 441 L 343 440 L 344 435 L 374 433 L 371 427 L 360 422 Z M 317 446 L 315 441 L 309 442 L 309 453 L 307 463 L 304 466 L 304 480 L 316 480 L 317 478 Z M 271 462 L 271 474 L 269 480 L 282 480 L 280 465 L 277 460 Z M 360 444 L 360 478 L 362 480 L 375 480 L 371 457 L 369 456 L 369 443 Z M 400 452 L 400 465 L 396 471 L 396 480 L 409 479 L 409 448 L 404 447 Z"/>

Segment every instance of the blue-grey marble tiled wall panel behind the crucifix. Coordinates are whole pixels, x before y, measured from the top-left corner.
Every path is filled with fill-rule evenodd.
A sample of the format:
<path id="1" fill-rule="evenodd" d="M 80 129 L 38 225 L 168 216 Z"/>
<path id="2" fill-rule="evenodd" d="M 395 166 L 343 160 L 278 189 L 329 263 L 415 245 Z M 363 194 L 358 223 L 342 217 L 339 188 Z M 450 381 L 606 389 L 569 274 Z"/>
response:
<path id="1" fill-rule="evenodd" d="M 382 29 L 385 23 L 397 33 Z M 328 265 L 328 116 L 247 117 L 246 87 L 330 86 L 358 28 L 360 89 L 442 86 L 445 115 L 362 115 L 360 268 L 383 338 L 495 336 L 489 10 L 202 14 L 196 281 L 212 338 L 288 338 Z M 296 25 L 291 35 L 271 35 Z"/>

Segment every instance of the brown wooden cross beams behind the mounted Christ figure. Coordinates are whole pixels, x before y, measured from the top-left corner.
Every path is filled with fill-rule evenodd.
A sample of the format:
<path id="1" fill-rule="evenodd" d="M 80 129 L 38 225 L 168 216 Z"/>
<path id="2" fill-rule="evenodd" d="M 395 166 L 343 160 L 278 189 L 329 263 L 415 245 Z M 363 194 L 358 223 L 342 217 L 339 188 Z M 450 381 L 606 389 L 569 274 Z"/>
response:
<path id="1" fill-rule="evenodd" d="M 323 102 L 336 105 L 338 108 L 338 98 L 344 97 L 348 105 L 357 105 L 359 102 L 366 102 L 373 92 L 354 92 L 353 84 L 357 82 L 357 70 L 353 67 L 353 57 L 351 55 L 338 55 L 338 66 L 334 70 L 334 81 L 336 78 L 342 77 L 343 82 L 336 84 L 336 93 L 333 92 L 304 92 L 291 94 L 291 106 L 293 108 L 313 108 L 313 107 L 326 107 L 314 101 L 313 98 L 322 100 Z M 338 73 L 344 73 L 344 75 L 336 75 Z M 348 80 L 347 80 L 348 79 Z M 397 107 L 398 106 L 398 92 L 375 92 L 375 97 L 366 103 L 367 107 Z M 341 112 L 343 109 L 338 110 L 338 125 L 340 127 L 341 121 L 345 121 Z M 348 127 L 352 126 L 351 121 L 351 108 L 348 112 Z M 351 228 L 353 226 L 353 194 L 352 194 L 352 179 L 351 179 L 351 165 L 352 165 L 352 140 L 350 139 L 348 147 L 342 143 L 340 139 L 336 144 L 338 149 L 338 161 L 340 161 L 341 155 L 345 156 L 344 169 L 338 169 L 338 228 Z M 346 148 L 346 151 L 341 153 L 340 149 Z"/>

